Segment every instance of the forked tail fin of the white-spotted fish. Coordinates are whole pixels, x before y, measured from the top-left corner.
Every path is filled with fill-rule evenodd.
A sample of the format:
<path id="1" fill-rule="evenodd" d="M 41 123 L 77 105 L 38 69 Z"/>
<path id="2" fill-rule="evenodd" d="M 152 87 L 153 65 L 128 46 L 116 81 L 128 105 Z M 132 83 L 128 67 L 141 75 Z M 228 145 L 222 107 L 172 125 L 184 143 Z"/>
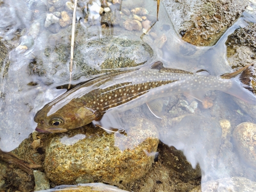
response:
<path id="1" fill-rule="evenodd" d="M 221 76 L 223 79 L 230 79 L 232 80 L 232 87 L 228 90 L 223 90 L 223 92 L 238 97 L 239 99 L 249 103 L 249 104 L 256 104 L 256 95 L 250 92 L 250 86 L 248 83 L 244 84 L 244 78 L 248 79 L 241 75 L 248 67 L 252 66 L 253 64 L 247 65 L 240 70 Z"/>

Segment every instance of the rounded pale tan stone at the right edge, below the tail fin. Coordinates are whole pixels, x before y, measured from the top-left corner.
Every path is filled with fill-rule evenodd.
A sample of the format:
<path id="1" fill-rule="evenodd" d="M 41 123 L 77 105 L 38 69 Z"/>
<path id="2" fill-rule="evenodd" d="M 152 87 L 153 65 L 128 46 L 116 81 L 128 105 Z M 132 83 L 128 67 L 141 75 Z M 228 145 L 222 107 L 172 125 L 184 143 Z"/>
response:
<path id="1" fill-rule="evenodd" d="M 256 124 L 239 124 L 233 131 L 233 140 L 241 159 L 256 168 Z"/>

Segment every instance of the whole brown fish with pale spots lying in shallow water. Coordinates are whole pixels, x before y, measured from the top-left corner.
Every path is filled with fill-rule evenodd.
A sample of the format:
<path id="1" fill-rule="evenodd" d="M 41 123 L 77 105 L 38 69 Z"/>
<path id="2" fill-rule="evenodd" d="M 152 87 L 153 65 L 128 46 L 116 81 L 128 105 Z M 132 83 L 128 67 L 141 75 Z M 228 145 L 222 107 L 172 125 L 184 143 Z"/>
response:
<path id="1" fill-rule="evenodd" d="M 201 95 L 205 91 L 220 90 L 256 104 L 256 96 L 239 80 L 240 74 L 249 66 L 223 76 L 211 76 L 165 68 L 161 61 L 157 61 L 140 69 L 104 74 L 79 83 L 46 104 L 34 116 L 35 130 L 42 133 L 67 132 L 93 121 L 100 122 L 108 112 L 126 111 L 144 103 L 154 114 L 150 106 L 152 101 L 179 93 L 187 93 L 202 101 L 204 95 Z M 158 117 L 157 113 L 154 115 Z"/>

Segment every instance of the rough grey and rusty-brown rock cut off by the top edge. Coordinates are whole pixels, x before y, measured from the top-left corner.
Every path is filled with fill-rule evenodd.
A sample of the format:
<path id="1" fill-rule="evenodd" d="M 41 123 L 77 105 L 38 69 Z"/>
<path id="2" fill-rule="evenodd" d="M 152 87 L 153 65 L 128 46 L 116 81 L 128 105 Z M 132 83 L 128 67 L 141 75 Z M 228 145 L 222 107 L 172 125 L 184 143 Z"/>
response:
<path id="1" fill-rule="evenodd" d="M 164 0 L 163 3 L 183 40 L 195 46 L 212 46 L 242 14 L 248 0 Z"/>

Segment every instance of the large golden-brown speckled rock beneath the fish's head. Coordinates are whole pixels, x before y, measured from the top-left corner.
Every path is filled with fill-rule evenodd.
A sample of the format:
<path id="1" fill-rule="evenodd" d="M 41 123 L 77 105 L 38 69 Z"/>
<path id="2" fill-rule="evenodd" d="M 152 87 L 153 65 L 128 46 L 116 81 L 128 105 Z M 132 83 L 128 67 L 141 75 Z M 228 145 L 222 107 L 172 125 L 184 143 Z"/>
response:
<path id="1" fill-rule="evenodd" d="M 159 142 L 157 130 L 141 119 L 126 134 L 108 134 L 90 126 L 52 134 L 46 148 L 47 176 L 56 184 L 95 181 L 124 184 L 139 179 L 154 161 Z"/>

